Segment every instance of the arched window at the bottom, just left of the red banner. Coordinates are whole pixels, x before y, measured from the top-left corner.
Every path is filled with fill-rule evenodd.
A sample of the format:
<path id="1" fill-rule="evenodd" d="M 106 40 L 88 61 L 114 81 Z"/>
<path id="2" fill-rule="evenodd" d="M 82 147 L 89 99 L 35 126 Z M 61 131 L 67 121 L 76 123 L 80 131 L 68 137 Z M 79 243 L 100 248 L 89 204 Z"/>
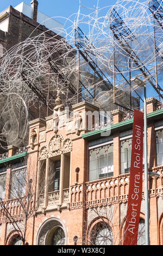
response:
<path id="1" fill-rule="evenodd" d="M 91 234 L 92 245 L 112 245 L 112 229 L 107 223 L 99 223 Z"/>

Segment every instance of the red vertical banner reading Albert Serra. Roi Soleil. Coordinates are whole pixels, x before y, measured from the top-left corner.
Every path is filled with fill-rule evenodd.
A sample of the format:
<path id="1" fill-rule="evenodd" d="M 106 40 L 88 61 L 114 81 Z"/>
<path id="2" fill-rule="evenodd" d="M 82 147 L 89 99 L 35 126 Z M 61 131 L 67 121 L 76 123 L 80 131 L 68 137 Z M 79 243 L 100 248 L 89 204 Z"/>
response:
<path id="1" fill-rule="evenodd" d="M 142 112 L 134 109 L 129 193 L 123 245 L 137 245 L 142 199 L 143 116 Z"/>

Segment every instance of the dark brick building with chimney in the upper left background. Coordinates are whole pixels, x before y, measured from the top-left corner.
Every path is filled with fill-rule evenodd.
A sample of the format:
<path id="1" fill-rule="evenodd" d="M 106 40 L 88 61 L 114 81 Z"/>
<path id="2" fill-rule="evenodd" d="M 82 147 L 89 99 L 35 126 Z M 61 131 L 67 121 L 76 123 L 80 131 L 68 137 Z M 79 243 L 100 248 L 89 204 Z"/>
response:
<path id="1" fill-rule="evenodd" d="M 11 5 L 0 13 L 0 44 L 3 45 L 4 50 L 9 50 L 11 47 L 26 40 L 29 36 L 37 36 L 43 32 L 49 38 L 56 35 L 53 31 L 37 22 L 37 7 L 38 2 L 33 0 L 31 2 L 33 8 L 32 19 L 27 15 L 21 13 Z M 1 30 L 1 24 L 6 22 L 6 29 Z M 60 39 L 60 35 L 55 36 Z"/>

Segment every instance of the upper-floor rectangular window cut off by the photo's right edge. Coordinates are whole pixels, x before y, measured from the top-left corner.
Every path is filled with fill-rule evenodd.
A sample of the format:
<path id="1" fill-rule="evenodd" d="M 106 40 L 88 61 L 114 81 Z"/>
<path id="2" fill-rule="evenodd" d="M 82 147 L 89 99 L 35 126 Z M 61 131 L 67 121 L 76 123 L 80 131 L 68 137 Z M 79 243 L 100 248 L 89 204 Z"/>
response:
<path id="1" fill-rule="evenodd" d="M 157 166 L 163 166 L 163 130 L 156 131 Z"/>

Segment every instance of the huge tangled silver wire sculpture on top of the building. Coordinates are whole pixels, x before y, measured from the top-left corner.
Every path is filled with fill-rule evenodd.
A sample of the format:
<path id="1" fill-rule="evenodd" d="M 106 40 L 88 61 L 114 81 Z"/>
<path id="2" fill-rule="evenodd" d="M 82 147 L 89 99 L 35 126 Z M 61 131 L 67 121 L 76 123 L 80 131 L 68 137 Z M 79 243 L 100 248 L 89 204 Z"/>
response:
<path id="1" fill-rule="evenodd" d="M 141 103 L 141 89 L 131 83 L 136 76 L 146 82 L 148 96 L 162 99 L 162 0 L 99 6 L 97 1 L 94 9 L 86 9 L 79 1 L 78 13 L 62 18 L 60 35 L 31 34 L 5 52 L 1 142 L 27 144 L 28 120 L 35 113 L 52 114 L 58 92 L 65 106 L 87 100 L 105 111 L 130 110 Z"/>

